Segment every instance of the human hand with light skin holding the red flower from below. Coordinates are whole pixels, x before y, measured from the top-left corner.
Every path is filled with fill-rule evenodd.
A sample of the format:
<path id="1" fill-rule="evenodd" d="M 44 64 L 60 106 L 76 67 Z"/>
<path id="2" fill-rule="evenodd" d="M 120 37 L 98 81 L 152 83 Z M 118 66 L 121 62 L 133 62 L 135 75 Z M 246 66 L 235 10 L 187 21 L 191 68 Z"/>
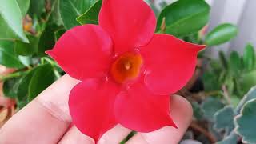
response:
<path id="1" fill-rule="evenodd" d="M 30 104 L 18 111 L 0 130 L 1 144 L 93 144 L 93 140 L 71 124 L 68 108 L 70 90 L 78 80 L 65 75 L 39 94 Z M 190 125 L 190 103 L 178 95 L 171 96 L 170 112 L 178 129 L 163 127 L 150 133 L 138 133 L 127 144 L 178 143 Z M 102 136 L 98 143 L 114 144 L 126 138 L 128 130 L 115 126 Z"/>

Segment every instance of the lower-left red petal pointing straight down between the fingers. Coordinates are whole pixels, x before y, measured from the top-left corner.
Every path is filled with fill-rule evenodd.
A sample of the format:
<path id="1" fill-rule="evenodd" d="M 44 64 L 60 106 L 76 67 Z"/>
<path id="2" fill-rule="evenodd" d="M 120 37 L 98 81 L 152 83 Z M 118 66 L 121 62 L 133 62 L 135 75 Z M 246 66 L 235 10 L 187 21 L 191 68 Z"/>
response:
<path id="1" fill-rule="evenodd" d="M 113 82 L 88 79 L 70 92 L 70 114 L 75 126 L 95 142 L 114 127 L 114 100 L 119 89 Z"/>

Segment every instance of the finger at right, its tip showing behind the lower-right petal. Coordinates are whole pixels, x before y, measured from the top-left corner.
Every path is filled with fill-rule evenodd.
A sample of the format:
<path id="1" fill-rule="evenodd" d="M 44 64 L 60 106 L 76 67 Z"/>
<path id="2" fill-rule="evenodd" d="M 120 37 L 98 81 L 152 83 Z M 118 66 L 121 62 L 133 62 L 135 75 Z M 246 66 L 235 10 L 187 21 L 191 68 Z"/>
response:
<path id="1" fill-rule="evenodd" d="M 174 95 L 171 97 L 170 111 L 175 124 L 178 126 L 178 129 L 171 126 L 166 126 L 154 132 L 138 133 L 131 138 L 127 144 L 178 143 L 190 125 L 193 114 L 192 107 L 185 98 Z"/>

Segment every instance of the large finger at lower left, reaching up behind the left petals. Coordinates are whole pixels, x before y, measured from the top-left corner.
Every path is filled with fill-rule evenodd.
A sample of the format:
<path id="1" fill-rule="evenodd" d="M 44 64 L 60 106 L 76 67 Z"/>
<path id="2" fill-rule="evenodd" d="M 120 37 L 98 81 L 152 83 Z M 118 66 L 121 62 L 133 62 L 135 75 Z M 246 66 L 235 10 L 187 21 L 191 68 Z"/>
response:
<path id="1" fill-rule="evenodd" d="M 65 75 L 18 111 L 0 130 L 0 143 L 57 143 L 70 125 L 68 95 L 78 83 Z"/>

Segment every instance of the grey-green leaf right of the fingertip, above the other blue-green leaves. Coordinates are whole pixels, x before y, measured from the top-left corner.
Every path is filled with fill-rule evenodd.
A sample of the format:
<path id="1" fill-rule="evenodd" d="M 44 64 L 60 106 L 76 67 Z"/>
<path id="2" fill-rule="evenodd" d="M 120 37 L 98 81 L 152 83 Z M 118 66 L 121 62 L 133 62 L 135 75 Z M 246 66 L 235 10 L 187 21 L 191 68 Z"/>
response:
<path id="1" fill-rule="evenodd" d="M 222 109 L 224 104 L 220 102 L 217 98 L 206 98 L 204 102 L 202 102 L 202 110 L 204 113 L 205 118 L 209 121 L 214 121 L 214 114 Z"/>

